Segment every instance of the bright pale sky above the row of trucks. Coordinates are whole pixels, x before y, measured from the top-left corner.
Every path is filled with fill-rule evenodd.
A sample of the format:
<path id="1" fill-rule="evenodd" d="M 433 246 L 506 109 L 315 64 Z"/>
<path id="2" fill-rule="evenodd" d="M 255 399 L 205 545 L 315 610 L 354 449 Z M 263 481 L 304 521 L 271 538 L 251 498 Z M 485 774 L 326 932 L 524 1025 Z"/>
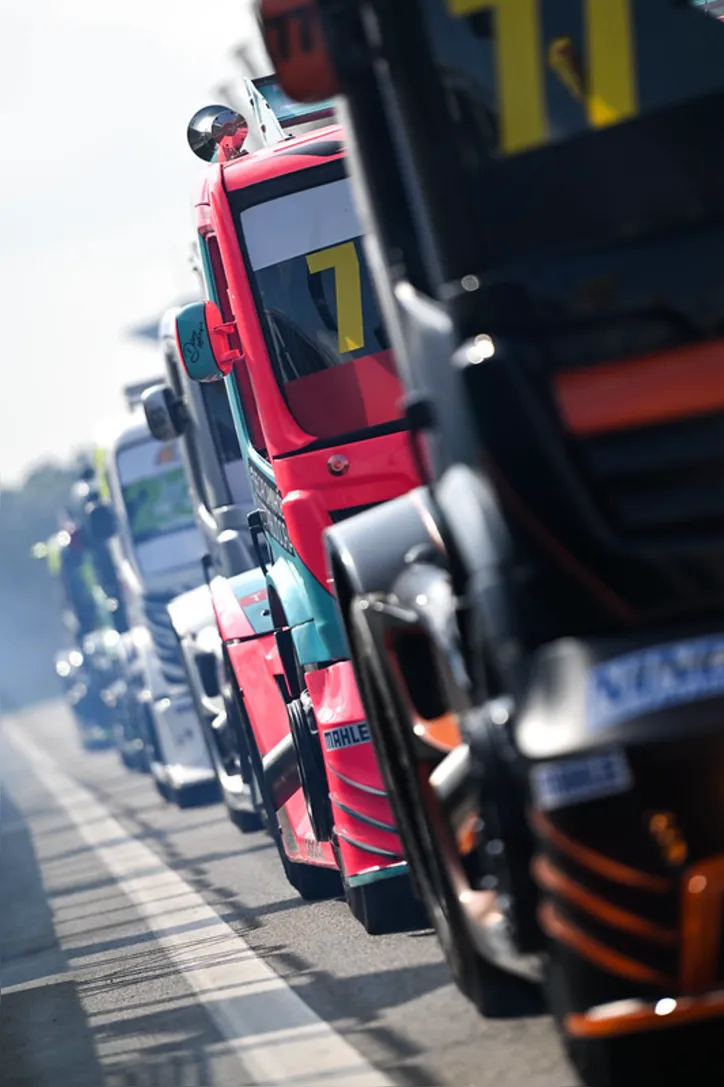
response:
<path id="1" fill-rule="evenodd" d="M 124 332 L 194 291 L 186 126 L 252 0 L 0 0 L 0 485 L 64 459 L 160 374 Z"/>

